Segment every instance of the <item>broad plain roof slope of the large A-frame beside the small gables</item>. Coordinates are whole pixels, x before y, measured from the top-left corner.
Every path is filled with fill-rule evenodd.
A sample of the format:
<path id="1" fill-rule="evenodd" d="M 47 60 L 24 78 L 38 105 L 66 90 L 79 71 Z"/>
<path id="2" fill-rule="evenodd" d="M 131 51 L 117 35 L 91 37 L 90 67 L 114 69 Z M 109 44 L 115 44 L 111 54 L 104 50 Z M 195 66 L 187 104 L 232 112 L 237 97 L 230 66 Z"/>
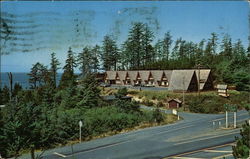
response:
<path id="1" fill-rule="evenodd" d="M 194 70 L 173 70 L 169 90 L 187 91 L 193 75 Z"/>

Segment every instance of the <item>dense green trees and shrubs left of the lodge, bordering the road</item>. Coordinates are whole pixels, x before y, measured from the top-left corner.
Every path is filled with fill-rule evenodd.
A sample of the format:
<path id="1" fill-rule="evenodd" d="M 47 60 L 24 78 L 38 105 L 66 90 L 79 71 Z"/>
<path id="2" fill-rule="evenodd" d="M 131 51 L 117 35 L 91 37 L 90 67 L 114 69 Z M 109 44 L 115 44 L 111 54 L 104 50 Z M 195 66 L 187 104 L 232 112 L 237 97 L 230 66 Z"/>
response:
<path id="1" fill-rule="evenodd" d="M 41 158 L 42 155 L 35 155 L 36 150 L 44 152 L 77 140 L 79 121 L 83 121 L 82 138 L 89 140 L 141 123 L 161 123 L 164 120 L 158 110 L 141 111 L 138 103 L 122 100 L 126 89 L 118 90 L 115 94 L 117 100 L 112 103 L 103 100 L 96 74 L 91 73 L 97 70 L 92 65 L 83 65 L 86 56 L 82 54 L 88 51 L 96 52 L 97 48 L 84 48 L 78 58 L 69 48 L 59 83 L 56 78 L 60 62 L 52 53 L 49 67 L 37 62 L 31 68 L 28 74 L 30 89 L 22 89 L 18 83 L 13 89 L 7 86 L 0 89 L 0 105 L 5 105 L 0 108 L 2 157 L 17 158 L 29 150 L 32 159 Z M 80 75 L 75 74 L 77 66 L 82 71 Z M 80 83 L 77 78 L 81 78 Z"/>

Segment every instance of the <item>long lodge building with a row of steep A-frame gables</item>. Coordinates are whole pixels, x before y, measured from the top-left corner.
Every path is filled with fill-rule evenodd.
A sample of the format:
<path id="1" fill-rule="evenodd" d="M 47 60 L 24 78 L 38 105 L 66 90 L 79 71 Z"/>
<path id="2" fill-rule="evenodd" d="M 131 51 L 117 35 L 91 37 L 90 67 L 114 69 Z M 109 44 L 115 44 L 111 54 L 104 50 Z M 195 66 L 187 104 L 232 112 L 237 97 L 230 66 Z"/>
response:
<path id="1" fill-rule="evenodd" d="M 107 71 L 105 82 L 111 85 L 167 87 L 168 90 L 192 92 L 213 89 L 210 69 Z"/>

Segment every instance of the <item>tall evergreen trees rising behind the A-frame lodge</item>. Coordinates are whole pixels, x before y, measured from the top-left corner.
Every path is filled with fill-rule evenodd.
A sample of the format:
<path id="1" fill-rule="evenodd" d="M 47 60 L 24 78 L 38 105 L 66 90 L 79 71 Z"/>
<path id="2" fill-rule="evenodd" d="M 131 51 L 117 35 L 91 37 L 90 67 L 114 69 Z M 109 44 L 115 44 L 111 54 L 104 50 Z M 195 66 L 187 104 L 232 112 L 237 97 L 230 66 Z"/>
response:
<path id="1" fill-rule="evenodd" d="M 82 75 L 98 70 L 194 69 L 201 65 L 212 69 L 216 83 L 250 89 L 250 47 L 245 48 L 240 39 L 233 42 L 228 34 L 219 37 L 213 32 L 195 43 L 181 37 L 174 40 L 167 32 L 156 40 L 147 24 L 136 22 L 121 46 L 106 35 L 101 46 L 87 46 L 75 56 Z"/>

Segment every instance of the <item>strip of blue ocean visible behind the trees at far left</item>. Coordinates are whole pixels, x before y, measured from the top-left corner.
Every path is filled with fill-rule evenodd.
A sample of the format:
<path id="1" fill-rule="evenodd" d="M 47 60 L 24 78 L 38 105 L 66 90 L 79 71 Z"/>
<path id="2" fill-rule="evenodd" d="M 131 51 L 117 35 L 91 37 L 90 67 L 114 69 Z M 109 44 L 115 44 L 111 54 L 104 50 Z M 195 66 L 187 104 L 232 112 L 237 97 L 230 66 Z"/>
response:
<path id="1" fill-rule="evenodd" d="M 10 86 L 9 85 L 9 77 L 8 77 L 8 73 L 7 72 L 3 72 L 1 73 L 1 79 L 2 79 L 2 87 L 4 87 L 4 85 L 6 86 Z M 58 73 L 57 74 L 57 83 L 59 83 L 60 79 L 61 79 L 62 73 Z M 28 73 L 13 73 L 12 72 L 12 77 L 13 77 L 13 86 L 15 83 L 19 83 L 23 89 L 29 89 L 30 88 L 30 84 L 29 84 L 29 76 Z"/>

